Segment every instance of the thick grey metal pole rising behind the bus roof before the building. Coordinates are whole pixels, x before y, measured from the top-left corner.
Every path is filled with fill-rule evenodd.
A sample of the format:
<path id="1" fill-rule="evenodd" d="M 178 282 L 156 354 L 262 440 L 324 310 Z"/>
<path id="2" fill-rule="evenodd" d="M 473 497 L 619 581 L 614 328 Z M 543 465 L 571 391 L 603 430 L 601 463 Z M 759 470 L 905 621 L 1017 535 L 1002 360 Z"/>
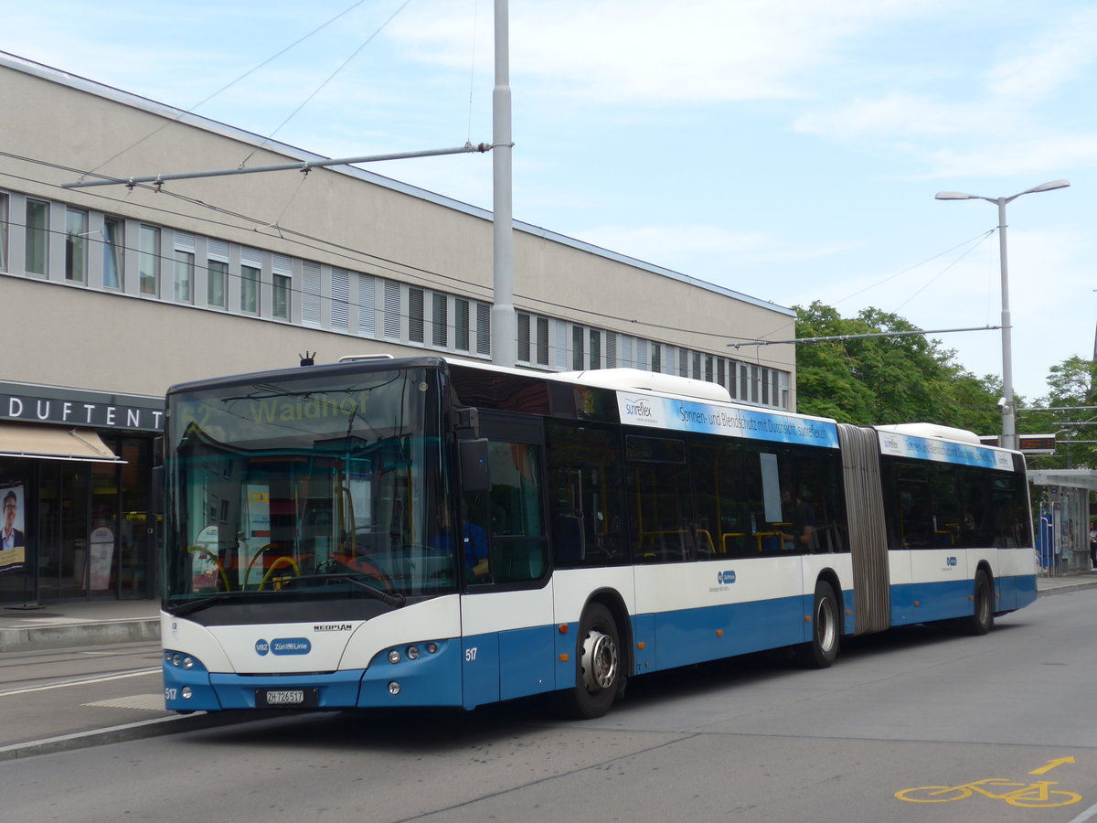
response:
<path id="1" fill-rule="evenodd" d="M 495 89 L 491 92 L 493 218 L 491 362 L 512 367 L 518 361 L 518 319 L 514 315 L 513 216 L 510 136 L 510 36 L 507 0 L 495 0 Z"/>

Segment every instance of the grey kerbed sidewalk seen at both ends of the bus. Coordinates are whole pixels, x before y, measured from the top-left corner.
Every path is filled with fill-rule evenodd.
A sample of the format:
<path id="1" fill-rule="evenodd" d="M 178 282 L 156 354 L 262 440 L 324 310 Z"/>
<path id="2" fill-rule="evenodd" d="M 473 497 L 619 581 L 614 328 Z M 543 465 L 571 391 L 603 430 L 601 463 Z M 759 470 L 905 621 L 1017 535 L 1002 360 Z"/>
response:
<path id="1" fill-rule="evenodd" d="M 1097 572 L 1037 578 L 1037 594 L 1040 597 L 1095 586 Z M 159 639 L 159 600 L 65 602 L 27 610 L 0 606 L 0 652 L 69 649 Z"/>

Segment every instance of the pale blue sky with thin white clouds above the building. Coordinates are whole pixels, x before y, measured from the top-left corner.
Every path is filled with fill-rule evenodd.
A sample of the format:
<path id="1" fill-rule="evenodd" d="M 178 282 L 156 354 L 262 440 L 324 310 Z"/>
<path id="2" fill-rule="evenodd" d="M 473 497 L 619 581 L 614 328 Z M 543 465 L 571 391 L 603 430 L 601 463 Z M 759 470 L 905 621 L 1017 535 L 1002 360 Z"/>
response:
<path id="1" fill-rule="evenodd" d="M 359 157 L 491 142 L 493 7 L 2 0 L 0 49 Z M 1094 356 L 1092 0 L 511 0 L 509 22 L 516 219 L 781 306 L 982 328 L 997 208 L 935 194 L 1066 179 L 1007 206 L 1015 391 Z M 490 155 L 369 169 L 491 207 Z M 930 337 L 1000 376 L 1000 331 Z"/>

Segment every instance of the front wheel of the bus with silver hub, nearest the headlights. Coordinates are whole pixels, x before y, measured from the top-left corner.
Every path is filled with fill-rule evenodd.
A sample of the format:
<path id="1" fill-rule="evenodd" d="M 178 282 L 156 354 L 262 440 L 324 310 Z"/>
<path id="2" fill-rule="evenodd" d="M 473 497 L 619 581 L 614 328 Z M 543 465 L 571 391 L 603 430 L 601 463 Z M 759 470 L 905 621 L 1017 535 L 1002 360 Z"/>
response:
<path id="1" fill-rule="evenodd" d="M 610 710 L 624 685 L 621 640 L 617 621 L 601 604 L 590 604 L 579 620 L 575 649 L 575 686 L 566 692 L 566 708 L 580 720 L 600 718 Z"/>

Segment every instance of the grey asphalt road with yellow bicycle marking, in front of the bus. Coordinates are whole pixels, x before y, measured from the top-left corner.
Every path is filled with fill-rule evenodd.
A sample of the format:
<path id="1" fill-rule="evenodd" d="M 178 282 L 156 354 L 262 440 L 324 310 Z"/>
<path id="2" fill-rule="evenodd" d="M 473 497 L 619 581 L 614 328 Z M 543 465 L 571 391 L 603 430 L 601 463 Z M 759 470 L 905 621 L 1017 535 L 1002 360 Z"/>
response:
<path id="1" fill-rule="evenodd" d="M 824 672 L 750 658 L 640 678 L 597 721 L 536 701 L 314 713 L 19 757 L 2 766 L 0 818 L 1097 820 L 1095 623 L 1097 589 L 1045 597 L 985 638 L 916 628 L 847 643 Z M 49 669 L 71 654 L 29 655 L 20 688 L 55 688 L 19 695 L 4 666 L 3 723 L 155 719 L 104 706 L 159 686 L 142 674 L 155 647 L 122 651 L 81 655 L 89 677 L 115 679 L 72 686 Z"/>

